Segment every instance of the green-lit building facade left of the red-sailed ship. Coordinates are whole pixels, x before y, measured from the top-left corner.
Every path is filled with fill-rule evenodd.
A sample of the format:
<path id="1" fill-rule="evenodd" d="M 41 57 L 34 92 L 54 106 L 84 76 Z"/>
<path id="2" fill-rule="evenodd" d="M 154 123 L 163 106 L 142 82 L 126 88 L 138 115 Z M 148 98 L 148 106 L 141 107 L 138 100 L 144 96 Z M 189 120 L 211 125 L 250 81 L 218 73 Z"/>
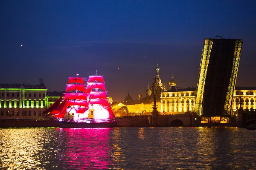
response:
<path id="1" fill-rule="evenodd" d="M 0 119 L 43 119 L 47 88 L 40 85 L 0 85 Z"/>

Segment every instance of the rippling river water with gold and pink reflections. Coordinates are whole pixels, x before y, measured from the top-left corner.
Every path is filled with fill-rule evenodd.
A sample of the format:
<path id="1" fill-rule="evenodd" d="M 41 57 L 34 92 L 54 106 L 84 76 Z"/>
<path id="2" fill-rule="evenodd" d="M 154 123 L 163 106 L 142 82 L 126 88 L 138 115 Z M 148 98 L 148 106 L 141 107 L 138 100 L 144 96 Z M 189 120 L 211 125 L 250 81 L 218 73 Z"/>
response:
<path id="1" fill-rule="evenodd" d="M 2 128 L 0 169 L 255 170 L 256 130 Z"/>

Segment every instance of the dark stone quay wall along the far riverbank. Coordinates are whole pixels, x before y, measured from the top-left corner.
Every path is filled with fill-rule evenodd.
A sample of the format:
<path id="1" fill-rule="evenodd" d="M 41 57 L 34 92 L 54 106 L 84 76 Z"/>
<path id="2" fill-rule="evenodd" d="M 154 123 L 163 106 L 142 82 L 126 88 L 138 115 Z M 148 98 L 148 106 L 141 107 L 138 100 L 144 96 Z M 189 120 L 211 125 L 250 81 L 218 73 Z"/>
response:
<path id="1" fill-rule="evenodd" d="M 190 112 L 176 115 L 123 116 L 116 120 L 116 127 L 242 127 L 236 116 L 231 118 L 230 123 L 201 123 L 201 117 Z M 52 119 L 0 119 L 0 127 L 59 127 L 59 124 Z"/>

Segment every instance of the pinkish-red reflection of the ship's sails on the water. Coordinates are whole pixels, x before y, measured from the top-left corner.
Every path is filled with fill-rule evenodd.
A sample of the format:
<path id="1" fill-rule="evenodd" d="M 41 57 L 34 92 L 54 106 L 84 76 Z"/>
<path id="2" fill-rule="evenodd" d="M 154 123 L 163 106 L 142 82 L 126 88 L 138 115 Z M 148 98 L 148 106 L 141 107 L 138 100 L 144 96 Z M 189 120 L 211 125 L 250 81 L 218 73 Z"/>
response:
<path id="1" fill-rule="evenodd" d="M 111 128 L 73 128 L 60 131 L 64 135 L 64 141 L 61 141 L 64 144 L 61 159 L 64 159 L 67 169 L 108 169 L 111 163 Z"/>

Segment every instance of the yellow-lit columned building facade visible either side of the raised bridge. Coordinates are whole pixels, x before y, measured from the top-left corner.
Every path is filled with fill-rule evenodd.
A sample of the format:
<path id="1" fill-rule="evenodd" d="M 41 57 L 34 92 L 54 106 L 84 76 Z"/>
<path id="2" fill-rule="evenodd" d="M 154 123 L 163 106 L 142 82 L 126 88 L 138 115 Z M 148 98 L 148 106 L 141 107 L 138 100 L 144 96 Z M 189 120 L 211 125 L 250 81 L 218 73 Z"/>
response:
<path id="1" fill-rule="evenodd" d="M 161 112 L 179 114 L 194 111 L 196 88 L 176 89 L 166 91 L 161 95 Z M 243 110 L 256 109 L 256 87 L 236 87 L 232 103 L 232 116 L 240 108 Z"/>

